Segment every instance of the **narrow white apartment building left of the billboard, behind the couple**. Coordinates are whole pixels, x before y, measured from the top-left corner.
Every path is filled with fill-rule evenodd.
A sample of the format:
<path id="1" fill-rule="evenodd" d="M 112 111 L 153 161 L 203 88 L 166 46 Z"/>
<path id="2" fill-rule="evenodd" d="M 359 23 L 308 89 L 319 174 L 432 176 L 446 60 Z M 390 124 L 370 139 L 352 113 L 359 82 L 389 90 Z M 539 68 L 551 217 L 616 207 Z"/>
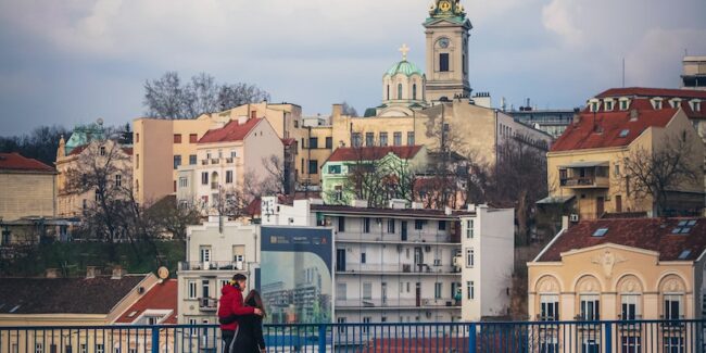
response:
<path id="1" fill-rule="evenodd" d="M 260 259 L 260 227 L 218 217 L 187 228 L 187 259 L 179 263 L 179 324 L 217 324 L 220 289 L 236 274 L 254 288 Z"/>

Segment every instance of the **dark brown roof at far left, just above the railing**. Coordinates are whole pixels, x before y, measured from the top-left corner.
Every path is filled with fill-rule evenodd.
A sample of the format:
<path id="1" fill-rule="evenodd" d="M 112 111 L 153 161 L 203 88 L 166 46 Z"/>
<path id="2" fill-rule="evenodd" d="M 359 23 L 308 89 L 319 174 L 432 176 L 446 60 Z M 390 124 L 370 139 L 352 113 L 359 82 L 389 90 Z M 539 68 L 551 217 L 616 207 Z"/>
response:
<path id="1" fill-rule="evenodd" d="M 109 314 L 144 278 L 0 278 L 0 314 Z"/>

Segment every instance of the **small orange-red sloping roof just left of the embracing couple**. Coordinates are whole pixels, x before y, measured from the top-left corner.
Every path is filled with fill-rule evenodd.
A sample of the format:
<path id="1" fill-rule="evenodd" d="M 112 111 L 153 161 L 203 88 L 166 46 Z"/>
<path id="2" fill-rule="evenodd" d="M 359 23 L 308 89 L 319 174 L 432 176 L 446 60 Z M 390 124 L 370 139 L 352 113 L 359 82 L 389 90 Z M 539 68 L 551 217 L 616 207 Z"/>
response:
<path id="1" fill-rule="evenodd" d="M 117 324 L 131 324 L 148 310 L 171 310 L 172 314 L 161 324 L 177 323 L 178 311 L 178 286 L 176 279 L 167 279 L 162 283 L 156 283 L 147 293 L 142 295 L 133 306 L 118 317 Z"/>

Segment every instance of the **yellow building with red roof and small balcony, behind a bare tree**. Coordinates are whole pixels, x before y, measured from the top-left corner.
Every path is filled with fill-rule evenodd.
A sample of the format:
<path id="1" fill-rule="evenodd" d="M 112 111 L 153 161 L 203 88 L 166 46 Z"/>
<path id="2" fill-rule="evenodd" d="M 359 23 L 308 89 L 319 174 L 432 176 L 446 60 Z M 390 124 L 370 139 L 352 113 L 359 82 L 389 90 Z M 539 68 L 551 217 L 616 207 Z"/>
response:
<path id="1" fill-rule="evenodd" d="M 571 201 L 581 219 L 604 213 L 655 214 L 651 194 L 635 191 L 635 176 L 626 163 L 640 153 L 653 155 L 673 149 L 679 139 L 691 148 L 685 163 L 697 174 L 667 190 L 668 212 L 698 214 L 704 207 L 704 147 L 679 105 L 656 104 L 654 99 L 591 100 L 577 114 L 547 153 L 550 198 Z M 634 165 L 631 164 L 631 165 Z"/>

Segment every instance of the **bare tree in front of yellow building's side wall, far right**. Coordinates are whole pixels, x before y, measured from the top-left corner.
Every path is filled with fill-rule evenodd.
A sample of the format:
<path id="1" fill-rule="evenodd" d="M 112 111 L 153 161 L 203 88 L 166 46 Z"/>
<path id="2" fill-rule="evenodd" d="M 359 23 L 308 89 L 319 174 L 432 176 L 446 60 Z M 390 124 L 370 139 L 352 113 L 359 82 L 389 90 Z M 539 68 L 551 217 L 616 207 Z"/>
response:
<path id="1" fill-rule="evenodd" d="M 653 212 L 657 216 L 667 214 L 670 191 L 699 182 L 702 161 L 693 159 L 691 142 L 683 131 L 681 138 L 668 138 L 665 146 L 655 151 L 640 148 L 625 155 L 626 188 L 636 199 L 652 198 Z"/>

